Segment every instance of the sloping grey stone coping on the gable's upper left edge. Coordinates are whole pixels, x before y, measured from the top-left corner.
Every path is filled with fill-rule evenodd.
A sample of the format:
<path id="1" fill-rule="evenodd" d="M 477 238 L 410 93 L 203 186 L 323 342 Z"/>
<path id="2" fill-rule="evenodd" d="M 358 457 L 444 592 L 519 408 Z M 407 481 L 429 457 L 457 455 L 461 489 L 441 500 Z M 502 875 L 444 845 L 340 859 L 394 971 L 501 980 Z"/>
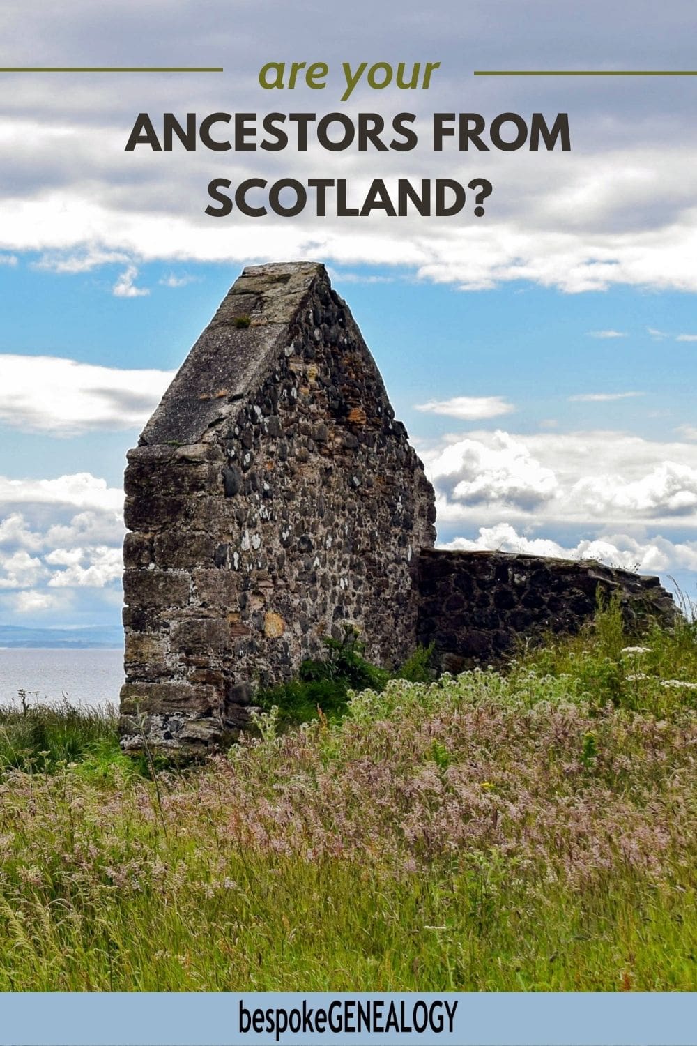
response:
<path id="1" fill-rule="evenodd" d="M 211 426 L 233 418 L 250 389 L 288 349 L 288 325 L 320 283 L 334 294 L 317 262 L 243 269 L 175 376 L 139 446 L 198 444 Z"/>

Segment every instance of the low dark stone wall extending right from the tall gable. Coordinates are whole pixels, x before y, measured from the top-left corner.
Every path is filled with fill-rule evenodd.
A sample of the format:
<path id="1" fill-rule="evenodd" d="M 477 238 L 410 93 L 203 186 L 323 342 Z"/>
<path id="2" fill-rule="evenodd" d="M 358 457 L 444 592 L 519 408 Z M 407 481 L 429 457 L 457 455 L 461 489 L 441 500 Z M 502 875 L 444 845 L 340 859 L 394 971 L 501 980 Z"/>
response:
<path id="1" fill-rule="evenodd" d="M 419 559 L 418 639 L 436 644 L 443 670 L 501 661 L 516 639 L 573 634 L 593 617 L 598 588 L 618 591 L 631 629 L 651 617 L 671 623 L 675 605 L 657 577 L 596 561 L 507 552 L 424 549 Z"/>

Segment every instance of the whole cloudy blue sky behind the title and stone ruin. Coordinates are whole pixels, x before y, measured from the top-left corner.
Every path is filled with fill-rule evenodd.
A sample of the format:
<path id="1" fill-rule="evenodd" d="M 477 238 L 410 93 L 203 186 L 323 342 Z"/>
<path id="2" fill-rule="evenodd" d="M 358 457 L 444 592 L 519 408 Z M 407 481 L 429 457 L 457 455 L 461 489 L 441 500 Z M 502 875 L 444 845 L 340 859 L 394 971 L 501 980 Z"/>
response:
<path id="1" fill-rule="evenodd" d="M 224 69 L 0 72 L 0 623 L 118 623 L 125 452 L 265 260 L 329 269 L 436 487 L 439 544 L 598 558 L 697 598 L 697 77 L 473 75 L 690 70 L 692 4 L 10 0 L 0 30 L 3 67 Z M 264 90 L 269 62 L 324 62 L 326 87 Z M 342 100 L 363 62 L 440 66 L 427 89 L 364 73 Z M 257 144 L 271 112 L 409 112 L 419 141 L 126 151 L 164 112 L 256 114 Z M 436 112 L 567 113 L 572 147 L 435 152 Z M 447 218 L 205 212 L 212 179 L 317 177 L 358 203 L 375 178 L 492 191 L 481 218 L 471 190 Z"/>

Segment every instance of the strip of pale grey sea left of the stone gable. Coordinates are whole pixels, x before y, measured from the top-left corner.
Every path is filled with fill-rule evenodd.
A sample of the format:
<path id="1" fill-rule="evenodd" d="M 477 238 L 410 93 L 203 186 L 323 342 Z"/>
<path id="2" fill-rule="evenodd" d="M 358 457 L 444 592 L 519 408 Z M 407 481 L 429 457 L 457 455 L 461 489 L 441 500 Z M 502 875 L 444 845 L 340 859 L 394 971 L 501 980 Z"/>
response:
<path id="1" fill-rule="evenodd" d="M 0 705 L 68 700 L 73 705 L 118 706 L 122 650 L 0 647 Z"/>

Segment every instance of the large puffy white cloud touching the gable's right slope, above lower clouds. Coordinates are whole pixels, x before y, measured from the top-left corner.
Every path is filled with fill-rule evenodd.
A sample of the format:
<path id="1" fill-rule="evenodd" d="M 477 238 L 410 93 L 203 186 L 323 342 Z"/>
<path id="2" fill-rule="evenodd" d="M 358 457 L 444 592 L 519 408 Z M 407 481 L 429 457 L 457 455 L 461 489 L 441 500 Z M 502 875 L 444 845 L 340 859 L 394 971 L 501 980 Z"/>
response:
<path id="1" fill-rule="evenodd" d="M 623 432 L 496 431 L 421 450 L 439 523 L 697 526 L 694 445 Z"/>

